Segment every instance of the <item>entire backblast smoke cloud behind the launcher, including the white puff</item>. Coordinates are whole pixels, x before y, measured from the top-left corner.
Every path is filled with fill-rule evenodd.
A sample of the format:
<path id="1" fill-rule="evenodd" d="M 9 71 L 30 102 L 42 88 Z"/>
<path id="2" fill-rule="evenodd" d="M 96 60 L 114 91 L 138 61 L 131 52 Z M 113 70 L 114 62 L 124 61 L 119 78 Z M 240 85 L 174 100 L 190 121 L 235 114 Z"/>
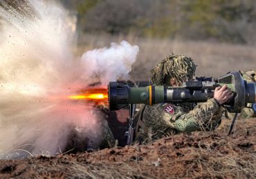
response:
<path id="1" fill-rule="evenodd" d="M 72 54 L 73 19 L 60 5 L 41 0 L 28 0 L 18 8 L 0 4 L 2 158 L 57 154 L 63 151 L 71 126 L 100 143 L 102 119 L 92 107 L 68 101 L 66 96 L 95 77 L 103 85 L 129 78 L 138 46 L 112 43 L 77 59 Z M 28 5 L 19 8 L 24 4 Z"/>

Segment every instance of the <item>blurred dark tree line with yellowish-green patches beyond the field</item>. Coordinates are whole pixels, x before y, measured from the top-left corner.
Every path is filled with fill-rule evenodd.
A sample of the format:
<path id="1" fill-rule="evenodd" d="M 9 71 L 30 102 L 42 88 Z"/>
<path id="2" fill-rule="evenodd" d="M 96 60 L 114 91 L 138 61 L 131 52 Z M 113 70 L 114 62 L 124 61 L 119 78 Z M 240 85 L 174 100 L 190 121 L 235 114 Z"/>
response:
<path id="1" fill-rule="evenodd" d="M 254 0 L 61 0 L 80 32 L 255 44 Z"/>

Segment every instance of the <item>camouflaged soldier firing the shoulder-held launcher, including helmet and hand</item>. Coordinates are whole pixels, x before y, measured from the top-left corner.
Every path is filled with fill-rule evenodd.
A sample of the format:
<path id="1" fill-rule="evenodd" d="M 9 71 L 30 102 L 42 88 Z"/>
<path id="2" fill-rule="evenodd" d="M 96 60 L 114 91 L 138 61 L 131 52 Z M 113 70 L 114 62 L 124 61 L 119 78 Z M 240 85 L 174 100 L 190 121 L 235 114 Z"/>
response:
<path id="1" fill-rule="evenodd" d="M 192 80 L 196 65 L 184 55 L 167 56 L 151 70 L 154 85 L 180 86 Z M 230 89 L 224 85 L 217 87 L 214 98 L 205 103 L 174 104 L 161 103 L 143 105 L 135 114 L 137 123 L 135 143 L 149 143 L 152 140 L 185 131 L 212 131 L 221 123 L 221 104 L 232 97 Z"/>

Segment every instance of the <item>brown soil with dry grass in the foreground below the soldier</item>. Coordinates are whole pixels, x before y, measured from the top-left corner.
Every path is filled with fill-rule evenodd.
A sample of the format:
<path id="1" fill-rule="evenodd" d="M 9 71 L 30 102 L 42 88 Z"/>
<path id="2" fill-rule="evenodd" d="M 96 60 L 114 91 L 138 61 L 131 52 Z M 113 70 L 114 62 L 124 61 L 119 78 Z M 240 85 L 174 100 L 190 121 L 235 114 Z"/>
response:
<path id="1" fill-rule="evenodd" d="M 0 178 L 256 178 L 256 120 L 216 131 L 55 157 L 1 160 Z"/>

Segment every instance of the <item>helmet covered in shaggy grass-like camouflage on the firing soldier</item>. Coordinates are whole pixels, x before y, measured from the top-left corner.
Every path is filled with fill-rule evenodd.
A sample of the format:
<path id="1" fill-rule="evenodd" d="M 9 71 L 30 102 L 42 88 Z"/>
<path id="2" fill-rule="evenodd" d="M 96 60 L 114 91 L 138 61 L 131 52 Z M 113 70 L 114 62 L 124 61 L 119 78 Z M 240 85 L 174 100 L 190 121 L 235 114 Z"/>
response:
<path id="1" fill-rule="evenodd" d="M 154 85 L 164 85 L 167 78 L 176 78 L 182 84 L 185 78 L 186 80 L 193 78 L 196 66 L 188 56 L 167 56 L 150 71 L 150 78 Z"/>

